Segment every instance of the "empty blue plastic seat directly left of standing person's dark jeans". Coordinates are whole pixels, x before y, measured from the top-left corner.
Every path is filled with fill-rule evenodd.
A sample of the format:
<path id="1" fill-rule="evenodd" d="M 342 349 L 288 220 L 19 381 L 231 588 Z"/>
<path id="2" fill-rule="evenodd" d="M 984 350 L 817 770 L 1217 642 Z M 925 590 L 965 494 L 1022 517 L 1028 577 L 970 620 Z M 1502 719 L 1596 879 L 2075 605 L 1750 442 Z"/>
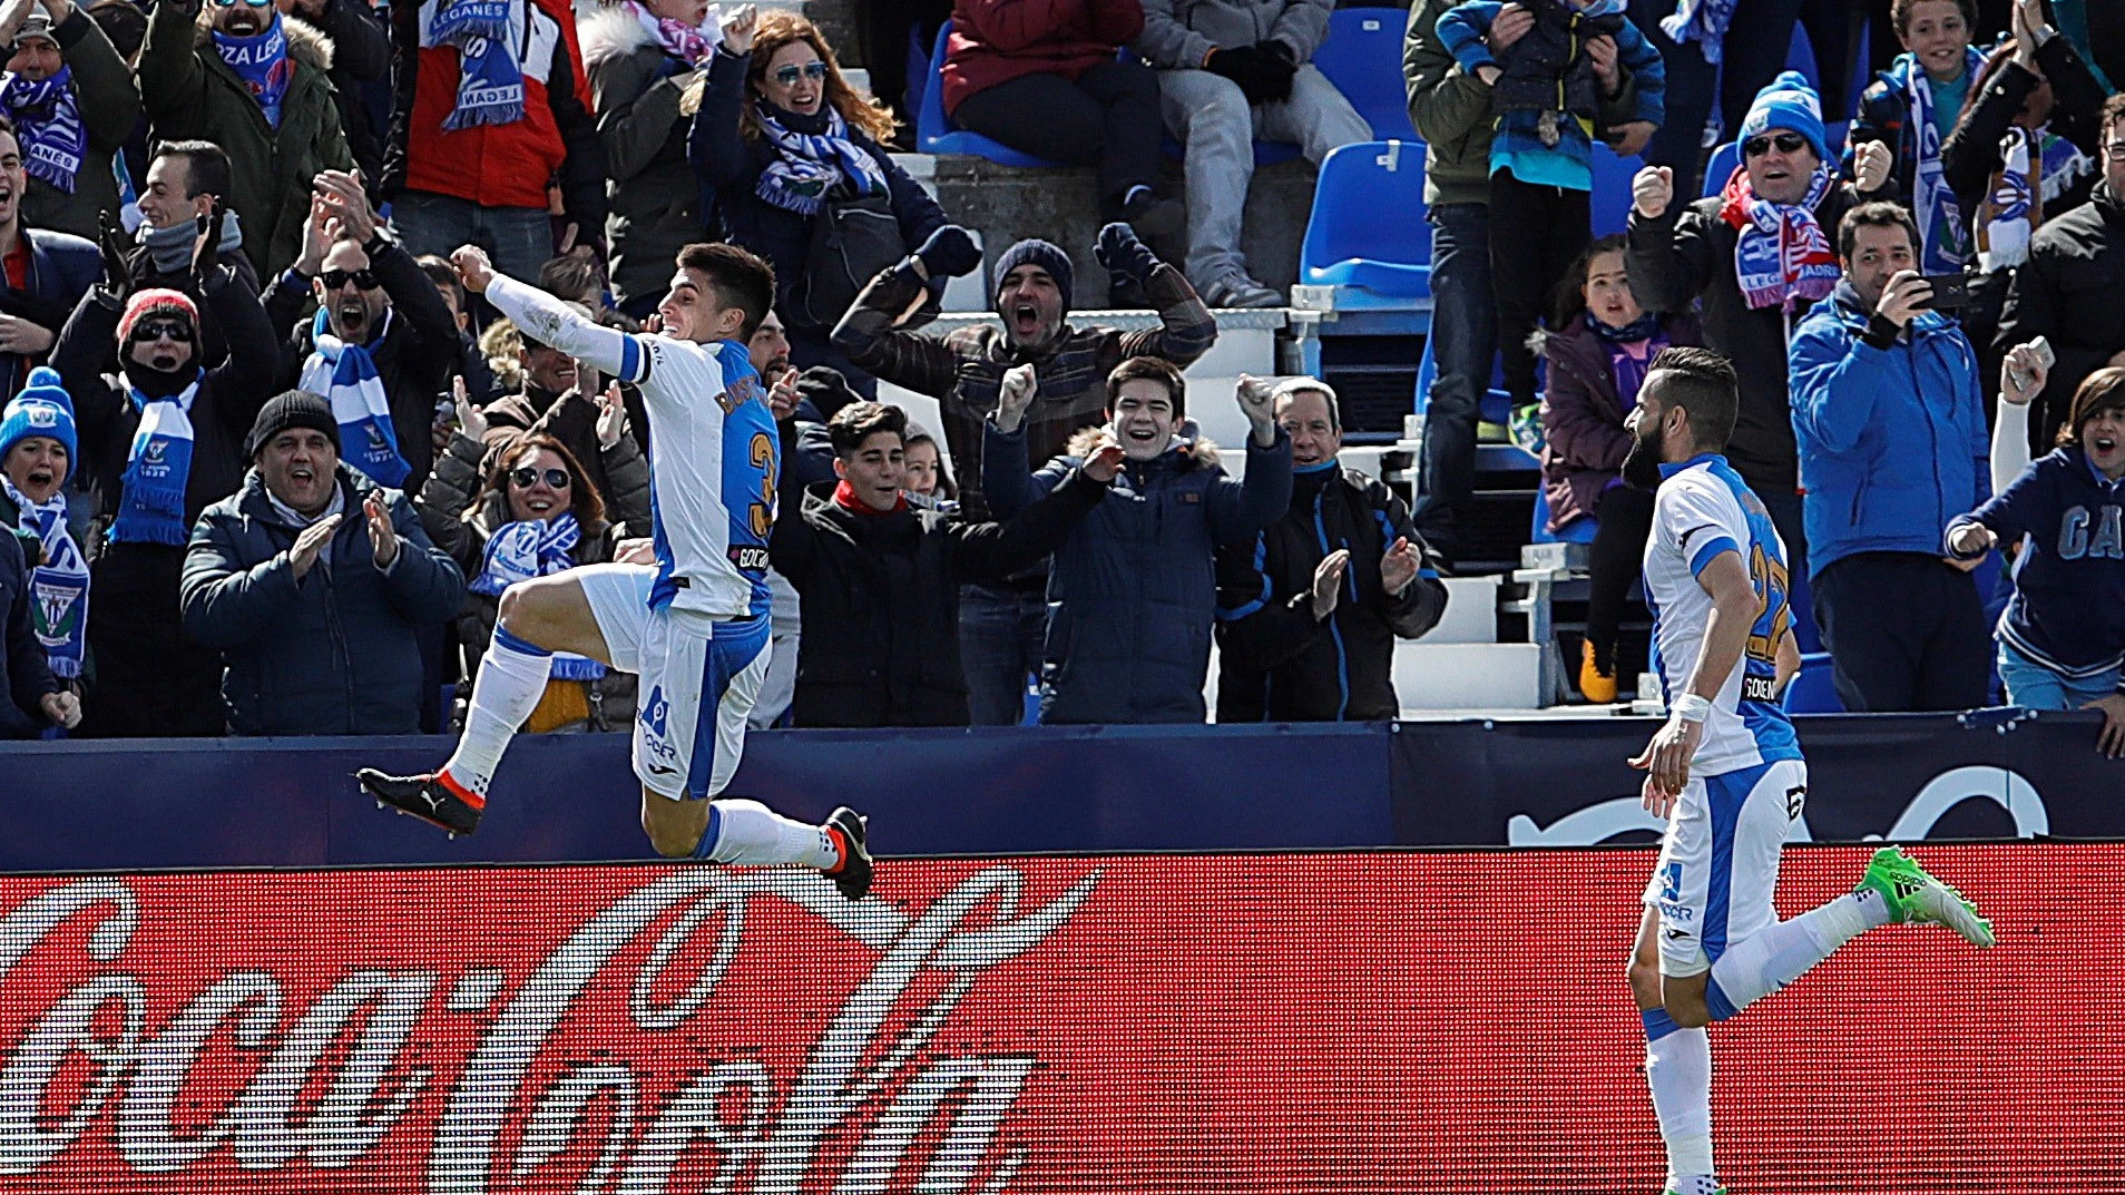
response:
<path id="1" fill-rule="evenodd" d="M 1298 247 L 1298 279 L 1383 298 L 1432 293 L 1424 142 L 1366 140 L 1339 147 L 1322 162 L 1307 238 Z"/>

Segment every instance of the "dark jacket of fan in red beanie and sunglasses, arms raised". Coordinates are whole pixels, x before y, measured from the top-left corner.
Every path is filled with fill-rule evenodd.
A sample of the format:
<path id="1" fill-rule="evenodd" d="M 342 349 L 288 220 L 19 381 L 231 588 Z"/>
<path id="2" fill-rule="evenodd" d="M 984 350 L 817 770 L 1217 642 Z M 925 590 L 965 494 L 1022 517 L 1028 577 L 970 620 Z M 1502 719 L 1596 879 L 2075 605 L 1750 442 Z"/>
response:
<path id="1" fill-rule="evenodd" d="M 81 298 L 60 340 L 51 347 L 51 366 L 60 370 L 66 393 L 74 400 L 74 423 L 81 434 L 79 476 L 96 493 L 98 519 L 110 521 L 123 495 L 125 459 L 132 455 L 140 410 L 134 408 L 117 366 L 121 304 L 96 287 Z M 223 270 L 206 285 L 204 313 L 230 334 L 230 357 L 206 370 L 200 393 L 191 400 L 191 472 L 185 476 L 185 523 L 191 525 L 210 504 L 236 493 L 251 461 L 244 457 L 244 436 L 276 387 L 278 361 L 266 310 L 240 281 Z"/>

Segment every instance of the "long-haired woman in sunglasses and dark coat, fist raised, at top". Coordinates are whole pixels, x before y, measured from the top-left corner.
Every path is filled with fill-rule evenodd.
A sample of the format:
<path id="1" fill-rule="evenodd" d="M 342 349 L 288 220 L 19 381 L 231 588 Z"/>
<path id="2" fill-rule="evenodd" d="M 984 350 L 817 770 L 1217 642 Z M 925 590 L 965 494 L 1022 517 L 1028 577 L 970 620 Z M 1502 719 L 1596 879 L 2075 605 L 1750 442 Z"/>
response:
<path id="1" fill-rule="evenodd" d="M 873 268 L 899 262 L 946 225 L 937 200 L 882 149 L 890 136 L 892 113 L 842 79 L 833 47 L 812 21 L 795 13 L 756 17 L 752 4 L 725 19 L 688 157 L 722 215 L 725 238 L 776 268 L 776 313 L 790 364 L 833 366 L 863 398 L 873 398 L 878 383 L 829 338 L 846 300 L 808 302 L 801 283 L 829 204 L 863 202 L 890 213 L 903 247 Z M 941 293 L 937 279 L 931 296 Z"/>

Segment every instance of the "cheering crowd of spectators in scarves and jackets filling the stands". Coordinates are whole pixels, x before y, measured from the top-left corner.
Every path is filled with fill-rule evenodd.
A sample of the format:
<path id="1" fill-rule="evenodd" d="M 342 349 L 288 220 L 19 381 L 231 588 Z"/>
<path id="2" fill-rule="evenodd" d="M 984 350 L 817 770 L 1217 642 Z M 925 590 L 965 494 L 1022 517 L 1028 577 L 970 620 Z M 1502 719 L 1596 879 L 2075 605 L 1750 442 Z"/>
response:
<path id="1" fill-rule="evenodd" d="M 1553 527 L 1598 523 L 1579 687 L 1615 700 L 1651 515 L 1626 419 L 1702 344 L 1847 708 L 1998 676 L 2125 740 L 2125 21 L 2093 0 L 1876 2 L 1902 53 L 1849 111 L 1781 70 L 1806 19 L 1851 77 L 1838 4 L 1415 0 L 1413 502 L 1339 464 L 1320 378 L 1243 376 L 1243 447 L 1190 419 L 1211 310 L 1286 302 L 1241 249 L 1254 142 L 1373 136 L 1313 64 L 1332 0 L 856 9 L 882 98 L 752 4 L 0 2 L 0 736 L 448 729 L 502 591 L 648 559 L 657 515 L 640 395 L 446 257 L 640 330 L 676 253 L 729 240 L 776 272 L 756 725 L 1009 725 L 1028 678 L 1043 721 L 1203 721 L 1213 642 L 1220 721 L 1394 717 L 1494 368 Z M 1090 264 L 994 249 L 997 319 L 937 334 L 984 253 L 905 168 L 899 60 L 948 17 L 950 119 L 1096 168 L 1105 228 Z M 1596 140 L 1645 162 L 1619 236 Z M 1073 319 L 1086 266 L 1156 325 Z M 633 678 L 563 653 L 527 729 L 633 717 Z"/>

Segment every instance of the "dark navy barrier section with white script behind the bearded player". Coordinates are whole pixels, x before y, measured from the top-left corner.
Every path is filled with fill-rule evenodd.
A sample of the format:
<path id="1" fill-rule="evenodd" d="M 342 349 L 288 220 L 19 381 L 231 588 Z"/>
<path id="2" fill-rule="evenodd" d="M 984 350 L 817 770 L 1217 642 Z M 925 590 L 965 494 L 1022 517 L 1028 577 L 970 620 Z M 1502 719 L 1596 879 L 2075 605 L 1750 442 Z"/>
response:
<path id="1" fill-rule="evenodd" d="M 1796 721 L 1808 804 L 1794 836 L 2125 838 L 2125 761 L 2097 714 L 1830 714 Z M 1400 723 L 1402 846 L 1590 846 L 1653 840 L 1638 804 L 1651 719 Z"/>

